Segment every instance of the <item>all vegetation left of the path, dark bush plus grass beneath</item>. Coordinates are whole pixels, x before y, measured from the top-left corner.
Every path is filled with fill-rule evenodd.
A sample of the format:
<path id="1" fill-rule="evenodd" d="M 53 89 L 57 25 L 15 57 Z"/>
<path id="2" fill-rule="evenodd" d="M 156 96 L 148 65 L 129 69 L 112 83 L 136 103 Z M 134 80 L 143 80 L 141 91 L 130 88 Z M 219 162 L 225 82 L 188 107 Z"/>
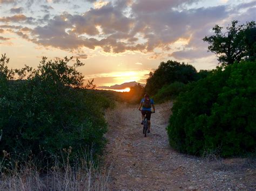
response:
<path id="1" fill-rule="evenodd" d="M 51 172 L 55 176 L 64 170 L 75 181 L 77 171 L 90 169 L 88 173 L 91 173 L 92 168 L 97 168 L 97 156 L 106 143 L 104 110 L 114 103 L 85 89 L 84 76 L 77 71 L 84 64 L 76 60 L 71 65 L 71 60 L 43 58 L 36 69 L 28 66 L 9 69 L 9 59 L 2 55 L 0 150 L 3 153 L 0 170 L 10 175 L 5 180 L 19 181 L 16 186 L 22 183 L 19 176 L 23 178 L 27 170 L 29 174 L 24 176 L 28 175 L 33 185 L 35 177 L 32 174 L 39 176 L 39 173 Z M 90 157 L 85 158 L 85 155 Z M 57 171 L 53 170 L 55 168 Z"/>

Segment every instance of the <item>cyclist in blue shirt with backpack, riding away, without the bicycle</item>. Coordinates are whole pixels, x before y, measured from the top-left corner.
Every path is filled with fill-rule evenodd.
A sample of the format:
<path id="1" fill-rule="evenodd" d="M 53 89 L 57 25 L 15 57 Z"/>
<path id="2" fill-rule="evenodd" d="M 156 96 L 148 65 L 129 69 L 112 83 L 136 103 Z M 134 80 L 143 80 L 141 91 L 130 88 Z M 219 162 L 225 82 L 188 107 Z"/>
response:
<path id="1" fill-rule="evenodd" d="M 144 116 L 146 115 L 147 123 L 149 124 L 147 133 L 150 133 L 150 117 L 152 112 L 151 106 L 153 107 L 153 112 L 155 112 L 156 110 L 154 109 L 154 101 L 150 98 L 149 94 L 146 93 L 144 95 L 144 98 L 142 98 L 142 101 L 140 102 L 139 110 L 142 111 L 142 125 Z M 140 108 L 142 108 L 142 110 Z"/>

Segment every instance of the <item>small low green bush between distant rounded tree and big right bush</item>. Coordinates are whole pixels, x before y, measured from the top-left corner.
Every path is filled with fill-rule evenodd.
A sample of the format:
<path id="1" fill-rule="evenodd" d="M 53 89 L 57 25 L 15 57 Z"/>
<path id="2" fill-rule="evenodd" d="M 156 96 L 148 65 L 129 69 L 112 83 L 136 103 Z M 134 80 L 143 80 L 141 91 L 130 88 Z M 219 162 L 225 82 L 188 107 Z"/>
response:
<path id="1" fill-rule="evenodd" d="M 182 82 L 174 82 L 169 85 L 163 86 L 158 90 L 157 94 L 152 98 L 157 103 L 163 103 L 167 100 L 176 98 L 181 91 L 184 90 L 185 84 Z"/>

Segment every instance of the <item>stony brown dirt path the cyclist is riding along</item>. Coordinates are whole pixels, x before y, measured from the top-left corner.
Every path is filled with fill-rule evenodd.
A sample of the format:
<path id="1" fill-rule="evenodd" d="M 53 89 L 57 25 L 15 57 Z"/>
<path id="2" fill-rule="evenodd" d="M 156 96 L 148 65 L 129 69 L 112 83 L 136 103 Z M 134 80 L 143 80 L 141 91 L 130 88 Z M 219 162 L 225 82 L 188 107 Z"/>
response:
<path id="1" fill-rule="evenodd" d="M 136 106 L 119 105 L 107 113 L 111 190 L 256 189 L 255 161 L 202 159 L 172 150 L 165 130 L 171 107 L 171 102 L 156 105 L 146 138 Z"/>

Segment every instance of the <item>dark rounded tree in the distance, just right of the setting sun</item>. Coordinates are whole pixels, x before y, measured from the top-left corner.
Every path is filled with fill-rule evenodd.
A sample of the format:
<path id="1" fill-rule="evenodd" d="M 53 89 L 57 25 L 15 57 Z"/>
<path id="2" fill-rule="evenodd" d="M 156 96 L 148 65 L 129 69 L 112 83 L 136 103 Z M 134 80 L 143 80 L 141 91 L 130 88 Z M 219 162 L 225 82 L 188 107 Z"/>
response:
<path id="1" fill-rule="evenodd" d="M 177 61 L 161 62 L 154 73 L 150 73 L 145 90 L 150 95 L 155 95 L 161 87 L 173 82 L 188 83 L 197 79 L 197 70 L 192 65 Z"/>

